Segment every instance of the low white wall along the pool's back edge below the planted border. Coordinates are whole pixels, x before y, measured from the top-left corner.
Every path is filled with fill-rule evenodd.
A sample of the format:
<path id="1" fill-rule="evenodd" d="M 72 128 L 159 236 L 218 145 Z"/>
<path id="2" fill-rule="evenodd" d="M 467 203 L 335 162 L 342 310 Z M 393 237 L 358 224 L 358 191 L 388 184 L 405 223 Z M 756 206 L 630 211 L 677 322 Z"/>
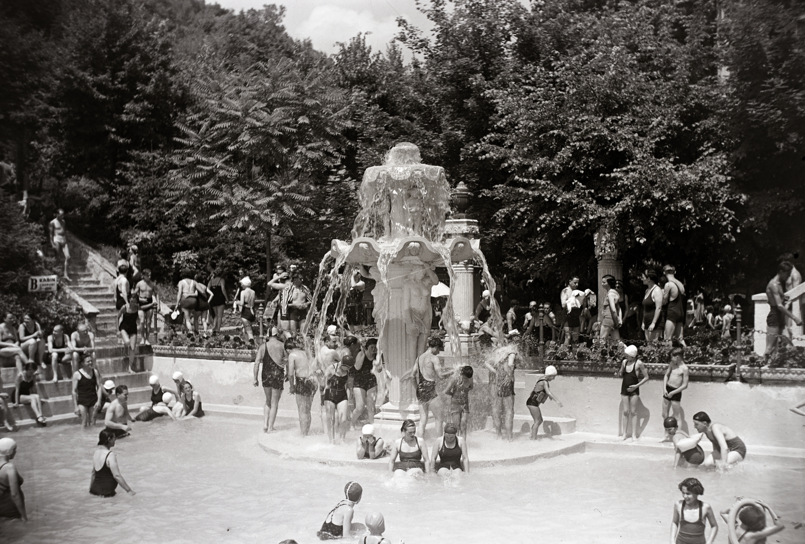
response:
<path id="1" fill-rule="evenodd" d="M 181 370 L 193 387 L 210 404 L 262 408 L 266 402 L 262 386 L 254 387 L 254 364 L 242 361 L 207 361 L 182 357 L 154 356 L 151 371 L 160 381 L 171 384 Z M 516 371 L 516 414 L 527 416 L 526 399 L 537 374 Z M 477 369 L 476 385 L 487 382 L 484 369 Z M 642 436 L 663 436 L 663 381 L 650 380 L 640 388 L 638 424 Z M 551 391 L 564 404 L 543 405 L 543 415 L 576 419 L 576 430 L 617 435 L 620 429 L 621 379 L 618 377 L 559 376 Z M 692 430 L 692 416 L 707 412 L 713 421 L 731 427 L 746 443 L 776 447 L 805 448 L 805 418 L 789 411 L 805 400 L 805 388 L 789 385 L 750 385 L 737 382 L 691 381 L 682 395 L 683 430 Z M 314 400 L 314 406 L 318 397 Z M 285 389 L 280 410 L 296 410 L 293 395 Z M 472 410 L 472 406 L 470 406 Z M 292 413 L 291 412 L 291 413 Z M 519 418 L 518 418 L 519 419 Z"/>

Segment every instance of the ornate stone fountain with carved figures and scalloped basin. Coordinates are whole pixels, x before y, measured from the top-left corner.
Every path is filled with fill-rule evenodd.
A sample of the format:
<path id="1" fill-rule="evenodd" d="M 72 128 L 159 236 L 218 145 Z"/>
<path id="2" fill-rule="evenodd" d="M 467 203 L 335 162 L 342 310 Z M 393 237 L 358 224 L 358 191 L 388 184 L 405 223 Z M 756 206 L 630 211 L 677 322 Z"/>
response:
<path id="1" fill-rule="evenodd" d="M 378 348 L 391 374 L 390 402 L 377 419 L 419 418 L 412 381 L 400 377 L 427 346 L 431 330 L 431 287 L 439 279 L 436 266 L 475 257 L 466 237 L 445 237 L 450 191 L 444 168 L 422 164 L 412 143 L 394 146 L 381 167 L 369 167 L 359 194 L 361 212 L 353 241 L 332 241 L 330 255 L 337 263 L 359 266 L 373 278 Z M 452 287 L 446 315 L 452 315 Z M 448 336 L 457 348 L 458 332 L 448 319 Z"/>

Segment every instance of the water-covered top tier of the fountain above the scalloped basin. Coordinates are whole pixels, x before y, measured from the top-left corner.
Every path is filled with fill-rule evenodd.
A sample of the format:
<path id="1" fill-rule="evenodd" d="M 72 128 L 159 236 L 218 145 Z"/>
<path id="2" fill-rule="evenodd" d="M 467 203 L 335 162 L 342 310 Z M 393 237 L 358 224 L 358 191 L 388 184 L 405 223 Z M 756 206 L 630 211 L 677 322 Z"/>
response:
<path id="1" fill-rule="evenodd" d="M 444 239 L 444 220 L 450 211 L 448 180 L 444 168 L 422 164 L 419 148 L 412 143 L 399 143 L 386 154 L 383 166 L 366 169 L 358 199 L 361 212 L 355 218 L 353 239 Z"/>

